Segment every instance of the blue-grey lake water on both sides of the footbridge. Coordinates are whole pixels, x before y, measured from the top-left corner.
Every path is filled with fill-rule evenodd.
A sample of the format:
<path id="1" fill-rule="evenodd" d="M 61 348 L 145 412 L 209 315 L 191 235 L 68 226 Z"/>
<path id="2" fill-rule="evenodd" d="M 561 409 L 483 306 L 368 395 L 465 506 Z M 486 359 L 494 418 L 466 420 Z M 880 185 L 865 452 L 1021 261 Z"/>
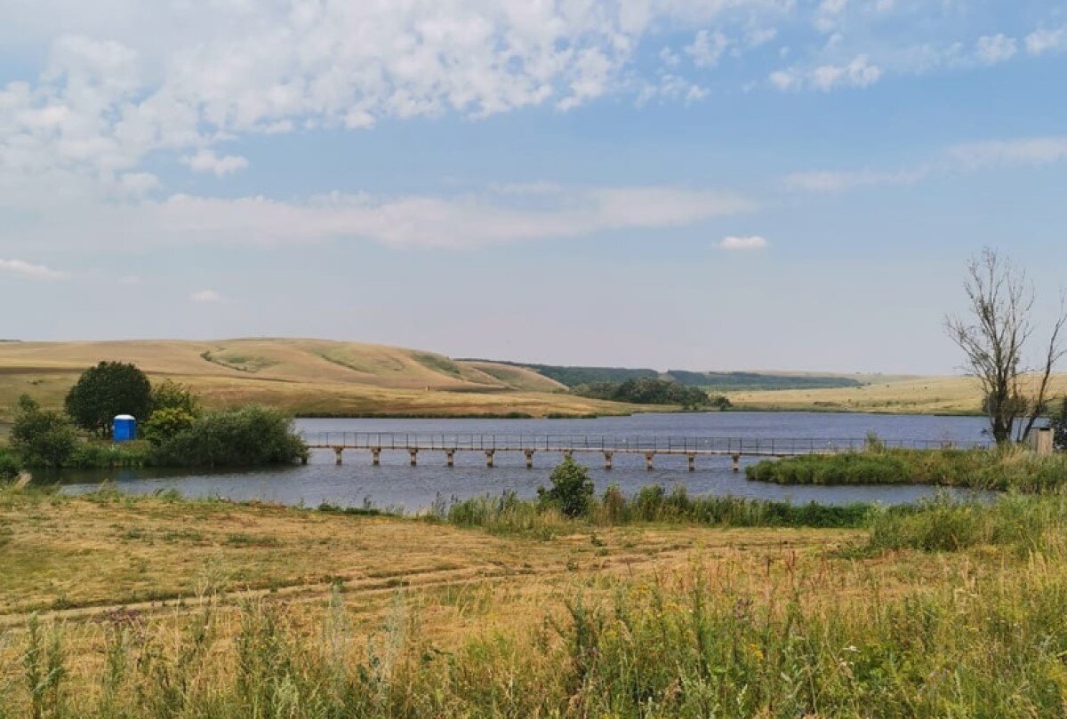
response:
<path id="1" fill-rule="evenodd" d="M 746 413 L 641 414 L 599 419 L 300 419 L 301 432 L 411 432 L 435 434 L 583 434 L 625 436 L 701 436 L 847 441 L 875 432 L 886 441 L 939 441 L 969 444 L 982 442 L 985 420 L 980 417 L 893 416 L 866 414 Z M 667 488 L 681 484 L 690 494 L 734 495 L 794 502 L 845 504 L 877 501 L 887 505 L 913 502 L 936 494 L 929 486 L 780 486 L 745 479 L 731 470 L 729 457 L 698 458 L 689 472 L 684 456 L 660 456 L 655 469 L 644 468 L 637 454 L 616 454 L 615 466 L 603 468 L 599 453 L 575 454 L 590 467 L 598 493 L 618 484 L 633 493 L 646 484 Z M 367 451 L 349 449 L 345 464 L 336 466 L 330 450 L 316 450 L 305 466 L 252 472 L 190 474 L 188 470 L 114 469 L 65 473 L 67 492 L 92 491 L 102 481 L 113 481 L 131 494 L 177 490 L 185 496 L 221 496 L 235 500 L 258 499 L 310 507 L 330 502 L 359 507 L 399 507 L 415 512 L 439 496 L 466 498 L 513 490 L 534 497 L 558 463 L 558 453 L 540 452 L 534 469 L 527 469 L 521 452 L 499 452 L 496 466 L 485 466 L 481 452 L 457 452 L 456 466 L 445 466 L 443 452 L 423 451 L 419 465 L 409 466 L 404 451 L 383 451 L 375 467 Z M 746 458 L 743 464 L 755 462 Z"/>

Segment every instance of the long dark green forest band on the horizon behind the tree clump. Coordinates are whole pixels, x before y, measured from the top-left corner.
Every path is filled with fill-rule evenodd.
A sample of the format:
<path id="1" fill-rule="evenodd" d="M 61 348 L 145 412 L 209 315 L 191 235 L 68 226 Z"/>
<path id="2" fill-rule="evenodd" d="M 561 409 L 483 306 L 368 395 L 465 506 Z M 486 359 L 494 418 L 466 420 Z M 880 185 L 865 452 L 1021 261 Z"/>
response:
<path id="1" fill-rule="evenodd" d="M 763 374 L 760 372 L 695 372 L 686 369 L 671 369 L 662 374 L 654 369 L 627 369 L 624 367 L 562 367 L 559 365 L 535 365 L 522 362 L 489 360 L 500 365 L 527 367 L 568 387 L 592 385 L 605 382 L 621 383 L 631 380 L 674 380 L 688 387 L 701 387 L 708 392 L 755 392 L 760 389 L 834 389 L 859 387 L 862 382 L 848 377 L 815 374 Z"/>

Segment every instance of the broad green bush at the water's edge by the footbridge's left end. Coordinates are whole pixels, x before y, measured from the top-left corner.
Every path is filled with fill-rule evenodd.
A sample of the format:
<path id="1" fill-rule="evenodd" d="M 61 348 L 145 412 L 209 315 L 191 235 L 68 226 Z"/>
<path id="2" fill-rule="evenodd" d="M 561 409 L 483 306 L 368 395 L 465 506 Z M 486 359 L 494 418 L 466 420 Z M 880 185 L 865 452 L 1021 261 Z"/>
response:
<path id="1" fill-rule="evenodd" d="M 291 464 L 306 457 L 307 447 L 288 417 L 249 406 L 201 417 L 160 444 L 153 462 L 177 467 L 252 467 Z"/>

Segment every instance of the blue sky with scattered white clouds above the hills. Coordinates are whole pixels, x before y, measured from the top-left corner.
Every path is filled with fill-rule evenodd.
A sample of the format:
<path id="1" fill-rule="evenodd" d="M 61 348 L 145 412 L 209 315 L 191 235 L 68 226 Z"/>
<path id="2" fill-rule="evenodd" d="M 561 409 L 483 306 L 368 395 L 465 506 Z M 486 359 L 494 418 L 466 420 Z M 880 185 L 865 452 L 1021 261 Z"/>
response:
<path id="1" fill-rule="evenodd" d="M 1067 268 L 1067 5 L 0 0 L 0 336 L 950 373 Z"/>

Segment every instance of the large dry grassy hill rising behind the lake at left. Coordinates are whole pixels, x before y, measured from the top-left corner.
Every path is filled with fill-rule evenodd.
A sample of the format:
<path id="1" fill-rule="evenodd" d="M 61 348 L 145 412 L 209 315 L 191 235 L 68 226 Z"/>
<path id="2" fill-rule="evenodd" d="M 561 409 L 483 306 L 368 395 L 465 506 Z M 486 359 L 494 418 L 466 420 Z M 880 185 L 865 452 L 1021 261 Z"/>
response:
<path id="1" fill-rule="evenodd" d="M 154 381 L 184 382 L 214 408 L 259 402 L 301 415 L 535 417 L 633 410 L 572 397 L 524 367 L 380 345 L 228 339 L 0 342 L 0 416 L 22 393 L 61 405 L 78 376 L 101 360 L 131 362 Z"/>

